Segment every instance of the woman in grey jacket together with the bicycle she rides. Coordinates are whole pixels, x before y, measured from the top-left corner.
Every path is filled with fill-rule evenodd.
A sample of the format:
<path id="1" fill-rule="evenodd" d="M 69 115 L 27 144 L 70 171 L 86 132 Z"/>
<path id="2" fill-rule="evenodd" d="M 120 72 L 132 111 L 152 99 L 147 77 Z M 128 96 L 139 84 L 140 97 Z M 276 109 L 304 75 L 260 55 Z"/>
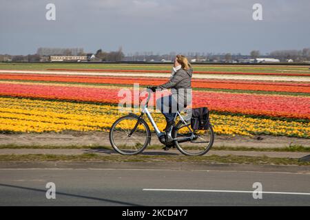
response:
<path id="1" fill-rule="evenodd" d="M 140 115 L 129 113 L 112 124 L 109 137 L 116 152 L 123 155 L 137 155 L 150 145 L 152 134 L 143 118 L 144 115 L 147 115 L 159 142 L 165 144 L 163 148 L 165 151 L 175 146 L 184 155 L 204 155 L 210 150 L 214 143 L 214 131 L 209 122 L 208 112 L 204 113 L 207 108 L 196 109 L 198 111 L 194 111 L 195 117 L 192 117 L 193 111 L 187 111 L 184 118 L 179 112 L 192 104 L 192 73 L 193 69 L 187 58 L 181 55 L 176 56 L 170 80 L 157 87 L 148 87 L 152 91 L 172 89 L 172 95 L 156 100 L 157 109 L 161 110 L 167 120 L 166 133 L 159 131 L 152 114 L 147 109 L 147 104 L 152 98 L 148 90 L 148 97 Z M 201 114 L 200 110 L 203 111 Z M 190 123 L 189 117 L 191 117 Z M 175 121 L 177 121 L 176 125 Z M 196 126 L 197 122 L 199 126 Z"/>

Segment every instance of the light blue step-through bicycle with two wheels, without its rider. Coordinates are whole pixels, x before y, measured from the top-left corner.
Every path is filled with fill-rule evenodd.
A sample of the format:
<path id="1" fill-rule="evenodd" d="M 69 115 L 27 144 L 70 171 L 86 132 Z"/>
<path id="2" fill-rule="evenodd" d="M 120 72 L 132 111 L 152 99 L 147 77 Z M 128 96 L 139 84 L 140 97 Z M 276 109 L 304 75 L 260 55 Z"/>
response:
<path id="1" fill-rule="evenodd" d="M 149 99 L 151 98 L 151 90 L 147 89 L 147 93 L 148 97 L 141 115 L 129 113 L 118 118 L 112 124 L 109 137 L 110 143 L 116 152 L 122 155 L 137 155 L 142 153 L 148 144 L 150 145 L 151 131 L 147 122 L 143 119 L 145 114 L 162 144 L 176 147 L 184 155 L 204 155 L 210 150 L 214 143 L 214 130 L 211 123 L 209 123 L 209 129 L 195 131 L 190 127 L 190 120 L 185 120 L 180 111 L 177 111 L 174 117 L 174 122 L 176 122 L 178 117 L 180 120 L 172 130 L 172 142 L 166 142 L 166 133 L 159 131 L 151 113 L 147 109 Z"/>

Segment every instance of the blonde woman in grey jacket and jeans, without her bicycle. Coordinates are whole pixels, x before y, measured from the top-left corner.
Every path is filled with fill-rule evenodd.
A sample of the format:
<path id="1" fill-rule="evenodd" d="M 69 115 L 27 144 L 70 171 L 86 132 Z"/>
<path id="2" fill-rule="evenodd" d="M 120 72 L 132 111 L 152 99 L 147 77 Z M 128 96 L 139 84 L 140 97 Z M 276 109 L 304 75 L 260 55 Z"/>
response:
<path id="1" fill-rule="evenodd" d="M 183 55 L 177 55 L 172 67 L 172 75 L 167 83 L 157 87 L 148 87 L 152 91 L 171 89 L 172 95 L 156 100 L 156 108 L 161 110 L 166 118 L 167 125 L 164 129 L 167 142 L 172 141 L 172 129 L 175 126 L 176 111 L 182 111 L 192 103 L 192 66 Z"/>

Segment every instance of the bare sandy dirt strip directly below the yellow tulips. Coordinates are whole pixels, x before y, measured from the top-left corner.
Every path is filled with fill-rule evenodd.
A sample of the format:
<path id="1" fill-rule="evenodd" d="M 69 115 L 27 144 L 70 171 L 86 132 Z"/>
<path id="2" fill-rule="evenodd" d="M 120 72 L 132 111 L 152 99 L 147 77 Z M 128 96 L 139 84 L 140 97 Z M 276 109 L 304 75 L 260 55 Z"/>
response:
<path id="1" fill-rule="evenodd" d="M 0 134 L 0 145 L 3 144 L 17 144 L 23 146 L 110 146 L 110 141 L 107 133 L 70 131 L 41 134 Z M 154 135 L 152 137 L 152 144 L 160 144 Z M 214 142 L 214 146 L 243 146 L 255 148 L 283 148 L 290 144 L 310 146 L 310 141 L 305 138 L 271 135 L 256 135 L 254 137 L 216 135 Z"/>

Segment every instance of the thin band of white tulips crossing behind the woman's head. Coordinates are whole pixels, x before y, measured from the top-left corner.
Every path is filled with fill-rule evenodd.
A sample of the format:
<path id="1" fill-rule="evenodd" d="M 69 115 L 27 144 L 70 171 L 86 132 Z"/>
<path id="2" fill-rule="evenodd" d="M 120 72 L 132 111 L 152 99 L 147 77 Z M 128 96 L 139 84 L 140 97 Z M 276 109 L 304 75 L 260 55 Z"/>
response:
<path id="1" fill-rule="evenodd" d="M 54 72 L 54 71 L 24 71 L 24 70 L 1 70 L 0 74 L 59 74 L 59 75 L 83 75 L 83 76 L 140 76 L 140 77 L 159 77 L 168 78 L 169 74 L 153 73 L 116 73 L 116 72 Z M 294 81 L 310 82 L 310 76 L 255 76 L 255 75 L 224 75 L 224 74 L 194 74 L 193 78 L 208 79 L 231 79 L 231 80 L 271 80 L 271 81 Z"/>

